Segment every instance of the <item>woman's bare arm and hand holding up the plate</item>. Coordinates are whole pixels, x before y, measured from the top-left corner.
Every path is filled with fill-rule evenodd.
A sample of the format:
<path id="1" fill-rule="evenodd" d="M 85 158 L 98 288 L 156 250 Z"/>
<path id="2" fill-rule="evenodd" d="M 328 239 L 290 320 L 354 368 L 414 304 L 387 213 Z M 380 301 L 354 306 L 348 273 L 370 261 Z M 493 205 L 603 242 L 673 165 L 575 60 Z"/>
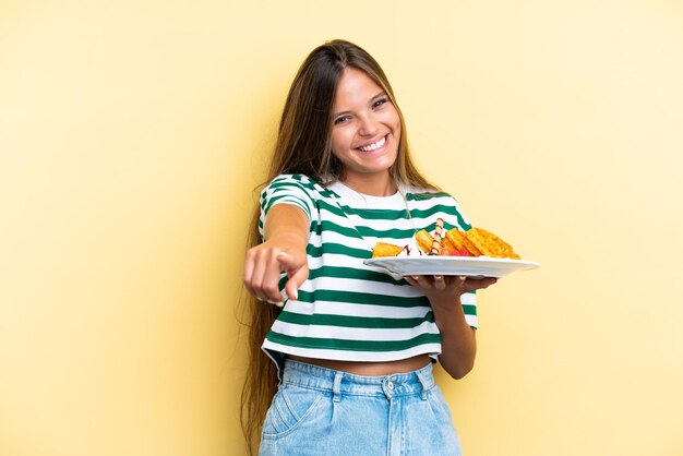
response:
<path id="1" fill-rule="evenodd" d="M 487 288 L 495 278 L 465 278 L 457 276 L 412 276 L 406 280 L 424 291 L 432 304 L 434 322 L 441 333 L 439 361 L 454 379 L 462 379 L 475 365 L 477 338 L 475 329 L 465 320 L 460 296 Z"/>

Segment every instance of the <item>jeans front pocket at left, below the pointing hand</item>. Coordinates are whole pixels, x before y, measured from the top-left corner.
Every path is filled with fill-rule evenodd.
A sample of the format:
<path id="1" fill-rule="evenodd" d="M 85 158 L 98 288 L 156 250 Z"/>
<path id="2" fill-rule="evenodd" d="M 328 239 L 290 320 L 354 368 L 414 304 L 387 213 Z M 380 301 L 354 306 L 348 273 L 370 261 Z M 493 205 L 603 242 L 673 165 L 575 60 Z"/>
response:
<path id="1" fill-rule="evenodd" d="M 280 387 L 263 423 L 264 436 L 283 436 L 314 415 L 325 394 L 291 385 Z"/>

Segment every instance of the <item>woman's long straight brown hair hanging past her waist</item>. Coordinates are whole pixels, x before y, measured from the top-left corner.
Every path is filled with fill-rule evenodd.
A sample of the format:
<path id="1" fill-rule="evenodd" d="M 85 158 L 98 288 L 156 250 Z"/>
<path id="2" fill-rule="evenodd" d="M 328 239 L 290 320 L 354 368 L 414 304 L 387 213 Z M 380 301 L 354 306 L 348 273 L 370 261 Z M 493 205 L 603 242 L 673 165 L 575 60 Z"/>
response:
<path id="1" fill-rule="evenodd" d="M 317 182 L 344 178 L 342 163 L 332 154 L 332 106 L 339 79 L 347 67 L 363 71 L 384 89 L 400 119 L 396 161 L 390 169 L 394 181 L 423 189 L 435 189 L 410 158 L 406 125 L 394 91 L 380 64 L 352 43 L 335 39 L 315 48 L 303 61 L 287 95 L 279 123 L 273 161 L 266 181 L 281 173 L 301 173 Z M 256 207 L 248 248 L 262 242 Z M 277 389 L 277 367 L 261 345 L 279 313 L 279 308 L 245 296 L 249 321 L 249 359 L 241 400 L 241 423 L 249 453 L 257 446 L 261 424 Z"/>

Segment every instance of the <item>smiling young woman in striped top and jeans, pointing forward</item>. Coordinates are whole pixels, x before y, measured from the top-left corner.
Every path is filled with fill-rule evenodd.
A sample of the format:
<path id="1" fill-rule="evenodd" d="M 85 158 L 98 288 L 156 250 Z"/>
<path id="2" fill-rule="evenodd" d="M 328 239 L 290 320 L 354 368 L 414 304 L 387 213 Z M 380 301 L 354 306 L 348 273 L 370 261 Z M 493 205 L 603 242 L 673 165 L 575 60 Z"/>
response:
<path id="1" fill-rule="evenodd" d="M 289 91 L 244 286 L 254 298 L 242 394 L 262 455 L 459 455 L 432 363 L 454 379 L 476 355 L 474 291 L 495 279 L 395 279 L 363 264 L 378 241 L 468 230 L 424 179 L 378 62 L 334 40 Z M 276 392 L 277 391 L 277 392 Z"/>

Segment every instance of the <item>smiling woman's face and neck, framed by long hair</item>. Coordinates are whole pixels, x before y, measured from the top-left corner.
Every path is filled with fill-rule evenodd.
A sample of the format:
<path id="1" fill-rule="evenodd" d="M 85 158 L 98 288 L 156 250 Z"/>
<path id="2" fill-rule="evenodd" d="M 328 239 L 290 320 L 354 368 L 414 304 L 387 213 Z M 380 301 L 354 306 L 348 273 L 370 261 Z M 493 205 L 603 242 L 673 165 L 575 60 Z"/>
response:
<path id="1" fill-rule="evenodd" d="M 368 194 L 376 192 L 364 189 L 393 185 L 388 169 L 398 154 L 400 118 L 382 87 L 347 67 L 332 116 L 332 153 L 344 165 L 344 182 Z"/>

